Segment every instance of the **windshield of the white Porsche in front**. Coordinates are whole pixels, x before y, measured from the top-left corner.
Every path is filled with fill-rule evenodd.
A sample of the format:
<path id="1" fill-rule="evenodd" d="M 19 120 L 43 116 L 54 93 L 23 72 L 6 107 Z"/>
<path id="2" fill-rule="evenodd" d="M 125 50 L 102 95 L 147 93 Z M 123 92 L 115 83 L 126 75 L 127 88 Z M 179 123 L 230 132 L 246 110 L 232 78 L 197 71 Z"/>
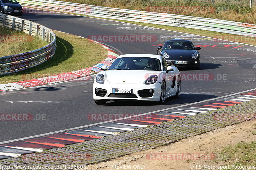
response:
<path id="1" fill-rule="evenodd" d="M 149 57 L 116 58 L 108 70 L 161 70 L 160 60 Z"/>

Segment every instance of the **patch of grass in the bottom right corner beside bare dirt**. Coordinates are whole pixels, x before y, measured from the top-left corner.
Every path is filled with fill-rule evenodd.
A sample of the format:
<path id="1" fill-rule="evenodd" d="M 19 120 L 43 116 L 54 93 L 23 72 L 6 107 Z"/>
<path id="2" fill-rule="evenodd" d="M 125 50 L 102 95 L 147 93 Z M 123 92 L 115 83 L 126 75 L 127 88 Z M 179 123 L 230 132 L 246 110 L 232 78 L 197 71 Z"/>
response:
<path id="1" fill-rule="evenodd" d="M 234 166 L 256 166 L 256 141 L 249 143 L 239 142 L 235 145 L 224 147 L 218 153 L 218 158 L 215 161 L 226 162 L 226 166 L 229 165 L 229 168 L 226 169 L 248 169 L 235 168 Z"/>

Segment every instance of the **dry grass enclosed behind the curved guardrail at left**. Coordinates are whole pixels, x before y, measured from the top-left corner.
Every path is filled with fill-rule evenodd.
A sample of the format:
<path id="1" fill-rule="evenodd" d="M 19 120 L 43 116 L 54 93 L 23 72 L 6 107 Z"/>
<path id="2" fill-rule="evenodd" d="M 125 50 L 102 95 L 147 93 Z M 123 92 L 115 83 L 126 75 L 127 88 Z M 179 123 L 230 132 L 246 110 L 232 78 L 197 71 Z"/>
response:
<path id="1" fill-rule="evenodd" d="M 46 41 L 10 28 L 0 29 L 0 56 L 32 51 L 47 45 Z"/>

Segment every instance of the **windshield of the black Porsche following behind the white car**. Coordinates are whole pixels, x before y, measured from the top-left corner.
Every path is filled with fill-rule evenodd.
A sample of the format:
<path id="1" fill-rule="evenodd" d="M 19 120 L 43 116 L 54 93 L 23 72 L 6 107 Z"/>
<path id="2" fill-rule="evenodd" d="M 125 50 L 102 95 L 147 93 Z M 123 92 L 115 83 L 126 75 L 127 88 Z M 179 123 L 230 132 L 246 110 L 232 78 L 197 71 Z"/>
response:
<path id="1" fill-rule="evenodd" d="M 195 50 L 193 44 L 191 42 L 184 41 L 171 41 L 164 43 L 163 49 L 190 49 Z"/>

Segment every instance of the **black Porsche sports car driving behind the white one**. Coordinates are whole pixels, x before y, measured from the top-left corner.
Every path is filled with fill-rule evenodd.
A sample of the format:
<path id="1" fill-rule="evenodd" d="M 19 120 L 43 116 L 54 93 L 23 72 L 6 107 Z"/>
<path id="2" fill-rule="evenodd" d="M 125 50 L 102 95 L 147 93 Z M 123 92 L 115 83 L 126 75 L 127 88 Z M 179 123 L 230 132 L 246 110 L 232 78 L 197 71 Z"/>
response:
<path id="1" fill-rule="evenodd" d="M 157 55 L 162 55 L 170 66 L 200 68 L 200 47 L 194 47 L 188 40 L 167 40 L 164 47 L 157 47 Z"/>

